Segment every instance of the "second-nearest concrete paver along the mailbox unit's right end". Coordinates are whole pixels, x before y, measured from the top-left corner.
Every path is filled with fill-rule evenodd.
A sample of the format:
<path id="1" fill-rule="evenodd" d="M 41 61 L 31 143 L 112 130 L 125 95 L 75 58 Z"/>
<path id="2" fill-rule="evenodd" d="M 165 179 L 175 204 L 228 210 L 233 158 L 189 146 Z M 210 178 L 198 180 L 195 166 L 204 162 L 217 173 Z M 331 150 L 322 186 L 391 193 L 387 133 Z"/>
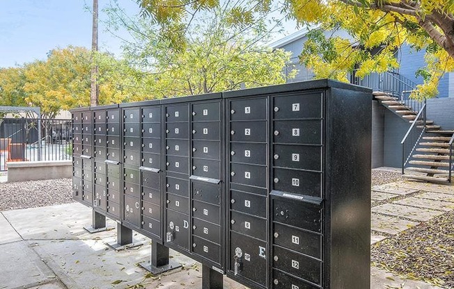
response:
<path id="1" fill-rule="evenodd" d="M 432 217 L 437 217 L 438 215 L 443 214 L 439 210 L 429 210 L 427 208 L 414 208 L 410 206 L 402 206 L 399 204 L 384 204 L 380 206 L 373 207 L 373 213 L 380 213 L 384 215 L 391 215 L 396 217 L 405 217 L 410 220 L 416 221 L 428 221 Z"/>

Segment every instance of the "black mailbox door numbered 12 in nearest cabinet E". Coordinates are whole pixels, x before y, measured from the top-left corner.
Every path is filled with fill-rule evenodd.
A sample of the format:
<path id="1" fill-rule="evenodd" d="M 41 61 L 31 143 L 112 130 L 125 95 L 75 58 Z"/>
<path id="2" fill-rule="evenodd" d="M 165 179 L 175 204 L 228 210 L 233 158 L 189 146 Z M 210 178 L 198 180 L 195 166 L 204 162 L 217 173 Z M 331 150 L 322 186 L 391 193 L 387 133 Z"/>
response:
<path id="1" fill-rule="evenodd" d="M 321 285 L 322 263 L 315 258 L 273 246 L 273 267 Z"/>

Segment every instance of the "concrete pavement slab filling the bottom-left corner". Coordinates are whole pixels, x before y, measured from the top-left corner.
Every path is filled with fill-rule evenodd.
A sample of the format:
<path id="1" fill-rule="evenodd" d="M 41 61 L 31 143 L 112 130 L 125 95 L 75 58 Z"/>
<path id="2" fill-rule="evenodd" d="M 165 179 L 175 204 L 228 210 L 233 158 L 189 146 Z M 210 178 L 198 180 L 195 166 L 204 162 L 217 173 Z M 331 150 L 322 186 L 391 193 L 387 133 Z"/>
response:
<path id="1" fill-rule="evenodd" d="M 26 241 L 0 245 L 0 288 L 29 288 L 56 279 Z"/>

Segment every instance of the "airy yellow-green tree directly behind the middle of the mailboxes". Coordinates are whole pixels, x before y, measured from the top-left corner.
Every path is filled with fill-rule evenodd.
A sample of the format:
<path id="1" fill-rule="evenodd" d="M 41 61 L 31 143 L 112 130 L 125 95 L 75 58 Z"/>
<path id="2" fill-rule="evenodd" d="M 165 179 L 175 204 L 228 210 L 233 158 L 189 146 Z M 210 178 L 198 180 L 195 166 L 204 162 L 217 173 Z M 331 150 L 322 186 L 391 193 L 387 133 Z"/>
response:
<path id="1" fill-rule="evenodd" d="M 193 26 L 178 30 L 178 38 L 163 38 L 154 23 L 127 17 L 118 6 L 104 12 L 111 27 L 123 26 L 132 35 L 123 44 L 123 56 L 155 98 L 285 82 L 283 67 L 290 53 L 261 45 L 269 37 L 265 20 L 237 25 L 237 12 L 228 5 L 193 19 Z"/>

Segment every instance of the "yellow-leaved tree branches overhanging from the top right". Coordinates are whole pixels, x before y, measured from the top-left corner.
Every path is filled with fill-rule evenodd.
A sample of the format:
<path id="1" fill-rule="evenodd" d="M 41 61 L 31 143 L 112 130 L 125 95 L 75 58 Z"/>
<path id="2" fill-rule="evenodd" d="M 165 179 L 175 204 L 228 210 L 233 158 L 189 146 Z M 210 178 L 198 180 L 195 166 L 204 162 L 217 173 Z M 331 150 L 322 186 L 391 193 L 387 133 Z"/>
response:
<path id="1" fill-rule="evenodd" d="M 270 10 L 272 1 L 253 1 L 253 9 L 237 6 L 235 20 L 246 25 Z M 172 37 L 169 29 L 187 26 L 194 13 L 219 7 L 218 0 L 138 0 L 144 17 Z M 250 3 L 250 2 L 249 2 Z M 346 80 L 347 72 L 359 67 L 357 75 L 397 67 L 395 52 L 407 43 L 425 49 L 427 66 L 414 97 L 434 97 L 444 72 L 454 70 L 454 2 L 451 0 L 287 0 L 282 12 L 308 28 L 344 29 L 354 39 L 322 38 L 313 33 L 307 42 L 303 62 L 319 77 Z M 178 35 L 178 33 L 177 33 Z"/>

